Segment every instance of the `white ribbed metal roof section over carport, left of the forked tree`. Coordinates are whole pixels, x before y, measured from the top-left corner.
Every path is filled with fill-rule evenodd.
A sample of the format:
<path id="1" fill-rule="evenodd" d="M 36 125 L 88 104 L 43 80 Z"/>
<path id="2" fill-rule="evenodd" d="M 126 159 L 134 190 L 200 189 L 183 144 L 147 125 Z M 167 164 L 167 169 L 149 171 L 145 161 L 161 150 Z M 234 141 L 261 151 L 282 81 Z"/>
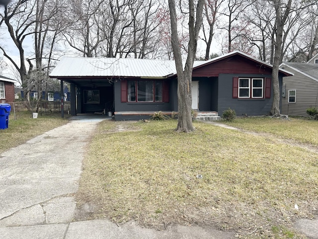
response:
<path id="1" fill-rule="evenodd" d="M 174 71 L 175 63 L 169 60 L 63 57 L 50 76 L 165 78 Z"/>

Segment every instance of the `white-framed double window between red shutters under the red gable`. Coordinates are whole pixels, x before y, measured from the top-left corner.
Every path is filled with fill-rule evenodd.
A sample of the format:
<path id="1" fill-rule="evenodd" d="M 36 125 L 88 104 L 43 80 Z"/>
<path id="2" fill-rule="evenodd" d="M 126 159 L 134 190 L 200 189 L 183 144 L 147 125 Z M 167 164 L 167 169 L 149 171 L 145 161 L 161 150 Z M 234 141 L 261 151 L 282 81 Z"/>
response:
<path id="1" fill-rule="evenodd" d="M 239 98 L 264 98 L 264 79 L 239 78 Z"/>

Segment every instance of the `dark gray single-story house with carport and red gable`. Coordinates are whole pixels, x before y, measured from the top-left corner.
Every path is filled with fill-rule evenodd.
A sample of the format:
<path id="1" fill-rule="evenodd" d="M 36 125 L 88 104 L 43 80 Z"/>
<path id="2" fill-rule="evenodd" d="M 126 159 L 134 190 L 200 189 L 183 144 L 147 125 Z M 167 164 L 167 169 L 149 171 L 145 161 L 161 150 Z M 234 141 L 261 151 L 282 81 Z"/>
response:
<path id="1" fill-rule="evenodd" d="M 239 51 L 196 61 L 192 109 L 222 114 L 231 108 L 238 116 L 266 115 L 273 98 L 271 74 L 272 65 Z M 280 69 L 280 85 L 291 75 Z M 64 57 L 50 77 L 71 84 L 72 115 L 105 110 L 122 120 L 178 111 L 174 61 Z"/>

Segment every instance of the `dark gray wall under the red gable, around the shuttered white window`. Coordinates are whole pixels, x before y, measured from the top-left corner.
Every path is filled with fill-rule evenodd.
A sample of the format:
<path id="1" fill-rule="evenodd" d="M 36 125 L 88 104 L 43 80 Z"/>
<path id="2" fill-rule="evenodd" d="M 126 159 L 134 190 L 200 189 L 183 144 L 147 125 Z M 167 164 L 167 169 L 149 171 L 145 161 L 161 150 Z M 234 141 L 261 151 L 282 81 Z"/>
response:
<path id="1" fill-rule="evenodd" d="M 236 111 L 237 116 L 262 116 L 270 112 L 273 98 L 273 87 L 271 84 L 270 99 L 234 99 L 233 93 L 233 77 L 259 77 L 271 78 L 271 75 L 237 75 L 237 74 L 220 74 L 219 75 L 219 101 L 218 113 L 221 116 L 223 111 L 231 108 Z M 280 77 L 280 85 L 282 78 Z"/>

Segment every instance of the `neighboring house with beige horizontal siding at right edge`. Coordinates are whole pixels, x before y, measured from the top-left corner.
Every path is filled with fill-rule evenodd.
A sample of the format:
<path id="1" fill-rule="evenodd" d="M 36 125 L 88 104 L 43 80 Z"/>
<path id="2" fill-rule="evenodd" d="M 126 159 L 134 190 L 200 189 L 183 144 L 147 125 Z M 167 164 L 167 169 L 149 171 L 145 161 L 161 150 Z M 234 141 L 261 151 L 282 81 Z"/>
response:
<path id="1" fill-rule="evenodd" d="M 282 63 L 281 68 L 294 73 L 283 77 L 281 113 L 308 116 L 308 108 L 318 107 L 318 64 L 288 62 Z"/>

